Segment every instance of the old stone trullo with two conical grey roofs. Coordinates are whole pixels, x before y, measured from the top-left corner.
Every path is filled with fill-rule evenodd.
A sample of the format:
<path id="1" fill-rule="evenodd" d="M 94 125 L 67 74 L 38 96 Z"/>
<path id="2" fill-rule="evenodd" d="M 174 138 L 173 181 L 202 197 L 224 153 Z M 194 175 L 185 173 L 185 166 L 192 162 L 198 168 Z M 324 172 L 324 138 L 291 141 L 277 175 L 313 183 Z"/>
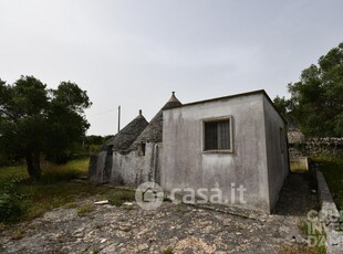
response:
<path id="1" fill-rule="evenodd" d="M 135 119 L 91 157 L 90 180 L 126 186 L 156 181 L 162 163 L 163 110 L 176 106 L 181 106 L 181 103 L 173 93 L 150 123 L 139 110 Z"/>

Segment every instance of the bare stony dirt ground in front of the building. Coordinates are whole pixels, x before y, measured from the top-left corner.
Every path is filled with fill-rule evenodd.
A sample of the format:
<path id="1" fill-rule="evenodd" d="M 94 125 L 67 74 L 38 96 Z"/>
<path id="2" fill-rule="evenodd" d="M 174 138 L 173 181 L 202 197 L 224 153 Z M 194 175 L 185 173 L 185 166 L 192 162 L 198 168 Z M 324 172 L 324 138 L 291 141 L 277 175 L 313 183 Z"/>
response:
<path id="1" fill-rule="evenodd" d="M 84 215 L 60 208 L 1 232 L 0 253 L 308 253 L 299 221 L 316 208 L 306 179 L 290 174 L 272 215 L 247 219 L 170 202 L 153 211 L 96 205 Z"/>

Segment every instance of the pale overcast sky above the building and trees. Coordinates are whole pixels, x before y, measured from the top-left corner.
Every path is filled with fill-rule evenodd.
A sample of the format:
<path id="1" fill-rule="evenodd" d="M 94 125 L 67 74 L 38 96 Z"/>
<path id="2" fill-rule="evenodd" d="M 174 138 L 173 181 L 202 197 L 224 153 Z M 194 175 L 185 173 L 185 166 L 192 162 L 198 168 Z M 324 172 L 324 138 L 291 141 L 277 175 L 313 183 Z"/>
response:
<path id="1" fill-rule="evenodd" d="M 86 89 L 89 134 L 183 103 L 287 84 L 343 42 L 343 1 L 0 0 L 0 77 Z"/>

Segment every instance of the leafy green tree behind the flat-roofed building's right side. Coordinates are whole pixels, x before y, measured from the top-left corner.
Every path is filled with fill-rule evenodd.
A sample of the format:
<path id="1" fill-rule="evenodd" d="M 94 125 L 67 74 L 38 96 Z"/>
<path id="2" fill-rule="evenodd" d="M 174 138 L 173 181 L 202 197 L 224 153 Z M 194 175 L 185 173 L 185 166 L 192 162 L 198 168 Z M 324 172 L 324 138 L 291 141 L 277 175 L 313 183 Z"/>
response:
<path id="1" fill-rule="evenodd" d="M 291 98 L 274 103 L 305 135 L 343 136 L 343 43 L 303 70 L 288 89 Z"/>

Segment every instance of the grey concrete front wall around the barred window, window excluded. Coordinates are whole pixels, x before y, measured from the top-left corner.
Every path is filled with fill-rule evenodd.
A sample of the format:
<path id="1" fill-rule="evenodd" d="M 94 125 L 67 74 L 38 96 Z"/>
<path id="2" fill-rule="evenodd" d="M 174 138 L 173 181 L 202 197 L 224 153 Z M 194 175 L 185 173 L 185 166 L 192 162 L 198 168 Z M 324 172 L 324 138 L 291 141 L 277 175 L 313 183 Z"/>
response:
<path id="1" fill-rule="evenodd" d="M 167 191 L 219 188 L 224 198 L 231 200 L 231 183 L 242 184 L 247 203 L 233 205 L 269 212 L 262 96 L 253 94 L 165 110 L 162 187 Z M 228 116 L 233 121 L 233 152 L 204 152 L 202 120 Z"/>

